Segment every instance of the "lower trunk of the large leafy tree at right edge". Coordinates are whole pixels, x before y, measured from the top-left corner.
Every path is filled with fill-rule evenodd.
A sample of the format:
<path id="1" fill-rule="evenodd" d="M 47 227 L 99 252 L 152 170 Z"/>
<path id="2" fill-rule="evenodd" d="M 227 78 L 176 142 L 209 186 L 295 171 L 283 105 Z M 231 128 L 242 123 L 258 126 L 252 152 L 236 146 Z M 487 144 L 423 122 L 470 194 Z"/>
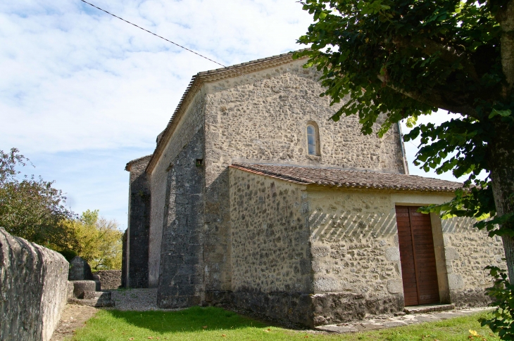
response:
<path id="1" fill-rule="evenodd" d="M 514 200 L 509 195 L 514 193 L 514 129 L 508 124 L 496 120 L 496 137 L 489 145 L 491 166 L 491 182 L 493 187 L 494 203 L 497 217 L 514 212 Z M 514 224 L 501 226 L 502 229 L 514 231 Z M 508 277 L 514 283 L 514 238 L 503 236 L 503 248 L 507 260 Z"/>

